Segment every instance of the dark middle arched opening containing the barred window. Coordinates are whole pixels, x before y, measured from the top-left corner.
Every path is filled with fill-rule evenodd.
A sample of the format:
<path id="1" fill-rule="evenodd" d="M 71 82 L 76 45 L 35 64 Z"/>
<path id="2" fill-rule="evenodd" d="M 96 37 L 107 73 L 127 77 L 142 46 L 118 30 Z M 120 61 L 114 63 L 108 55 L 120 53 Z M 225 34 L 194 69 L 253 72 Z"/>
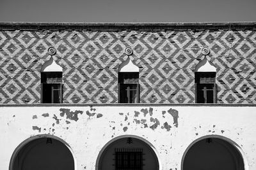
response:
<path id="1" fill-rule="evenodd" d="M 97 170 L 158 170 L 159 161 L 154 148 L 139 138 L 117 138 L 108 143 L 99 154 Z"/>

